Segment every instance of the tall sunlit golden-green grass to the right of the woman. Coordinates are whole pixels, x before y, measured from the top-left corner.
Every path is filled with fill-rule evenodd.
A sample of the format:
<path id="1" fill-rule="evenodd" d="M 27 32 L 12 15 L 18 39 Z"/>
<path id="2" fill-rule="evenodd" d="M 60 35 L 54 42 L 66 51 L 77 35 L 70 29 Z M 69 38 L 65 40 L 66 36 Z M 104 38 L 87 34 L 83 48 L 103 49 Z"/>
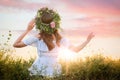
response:
<path id="1" fill-rule="evenodd" d="M 119 80 L 120 60 L 94 55 L 85 61 L 70 63 L 67 80 Z"/>

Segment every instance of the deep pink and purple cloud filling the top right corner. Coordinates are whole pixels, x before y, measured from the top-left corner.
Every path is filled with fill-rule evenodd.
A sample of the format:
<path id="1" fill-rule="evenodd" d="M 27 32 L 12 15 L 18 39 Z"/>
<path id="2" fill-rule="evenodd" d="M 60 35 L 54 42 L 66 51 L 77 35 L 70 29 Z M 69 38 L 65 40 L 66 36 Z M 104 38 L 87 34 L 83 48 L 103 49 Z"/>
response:
<path id="1" fill-rule="evenodd" d="M 119 0 L 62 0 L 70 11 L 90 15 L 119 15 Z"/>

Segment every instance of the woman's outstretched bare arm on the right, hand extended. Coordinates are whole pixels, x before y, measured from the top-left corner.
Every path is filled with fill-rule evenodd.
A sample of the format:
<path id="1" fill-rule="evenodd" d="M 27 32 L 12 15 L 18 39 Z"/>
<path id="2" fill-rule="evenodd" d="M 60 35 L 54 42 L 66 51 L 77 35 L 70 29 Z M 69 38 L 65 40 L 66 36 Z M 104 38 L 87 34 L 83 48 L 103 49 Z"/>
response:
<path id="1" fill-rule="evenodd" d="M 70 49 L 75 51 L 75 52 L 79 52 L 81 51 L 90 41 L 91 39 L 94 37 L 93 33 L 90 33 L 87 37 L 87 40 L 85 42 L 83 42 L 81 45 L 78 45 L 76 47 L 70 46 Z"/>

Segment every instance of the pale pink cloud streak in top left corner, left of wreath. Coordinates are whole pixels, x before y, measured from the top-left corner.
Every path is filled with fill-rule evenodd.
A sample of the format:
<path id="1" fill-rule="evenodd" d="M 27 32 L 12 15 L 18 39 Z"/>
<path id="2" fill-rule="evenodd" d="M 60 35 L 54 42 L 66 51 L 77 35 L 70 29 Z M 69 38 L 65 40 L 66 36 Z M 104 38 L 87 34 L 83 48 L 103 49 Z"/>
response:
<path id="1" fill-rule="evenodd" d="M 45 4 L 28 3 L 22 0 L 21 1 L 20 0 L 1 0 L 0 6 L 17 8 L 17 9 L 36 10 L 42 6 L 45 6 Z"/>

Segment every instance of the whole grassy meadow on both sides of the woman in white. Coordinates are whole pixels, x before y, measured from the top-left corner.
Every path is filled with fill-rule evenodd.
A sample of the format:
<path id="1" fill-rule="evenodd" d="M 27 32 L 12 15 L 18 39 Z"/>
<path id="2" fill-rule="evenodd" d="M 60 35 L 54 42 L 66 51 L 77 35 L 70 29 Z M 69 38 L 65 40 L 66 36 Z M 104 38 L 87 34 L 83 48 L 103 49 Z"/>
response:
<path id="1" fill-rule="evenodd" d="M 0 80 L 120 80 L 120 59 L 112 59 L 97 53 L 85 60 L 76 62 L 62 61 L 62 73 L 53 78 L 43 76 L 30 76 L 28 68 L 34 58 L 28 61 L 22 58 L 14 59 L 12 47 L 8 41 L 0 44 Z"/>

